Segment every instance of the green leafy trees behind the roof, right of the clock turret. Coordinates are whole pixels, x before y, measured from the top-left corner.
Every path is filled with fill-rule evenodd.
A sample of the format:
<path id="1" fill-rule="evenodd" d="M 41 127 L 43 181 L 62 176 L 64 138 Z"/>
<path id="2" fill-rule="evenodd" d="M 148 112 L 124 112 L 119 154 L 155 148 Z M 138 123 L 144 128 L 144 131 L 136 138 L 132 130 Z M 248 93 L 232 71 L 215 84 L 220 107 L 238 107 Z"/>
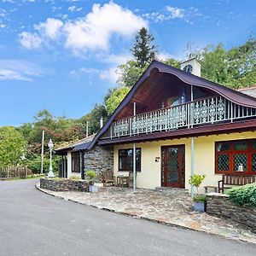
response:
<path id="1" fill-rule="evenodd" d="M 201 77 L 237 89 L 255 84 L 256 39 L 229 50 L 223 44 L 208 45 L 192 56 L 201 60 Z"/>

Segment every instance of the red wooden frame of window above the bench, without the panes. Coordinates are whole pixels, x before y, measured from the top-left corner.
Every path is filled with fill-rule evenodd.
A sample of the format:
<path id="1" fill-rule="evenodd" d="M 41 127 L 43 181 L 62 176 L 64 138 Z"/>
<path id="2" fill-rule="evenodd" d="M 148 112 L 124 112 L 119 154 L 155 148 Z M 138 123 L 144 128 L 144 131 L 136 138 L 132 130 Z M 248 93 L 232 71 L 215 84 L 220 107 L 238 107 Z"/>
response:
<path id="1" fill-rule="evenodd" d="M 253 154 L 256 154 L 256 148 L 253 149 L 253 141 L 256 142 L 256 139 L 241 139 L 241 140 L 231 140 L 231 141 L 221 141 L 215 142 L 215 174 L 232 174 L 232 175 L 256 175 L 256 170 L 253 172 Z M 247 143 L 247 149 L 237 150 L 235 149 L 236 143 Z M 219 143 L 229 143 L 230 148 L 224 151 L 218 151 Z M 218 156 L 219 155 L 229 155 L 229 170 L 228 171 L 219 171 L 218 170 Z M 246 154 L 247 155 L 247 170 L 246 171 L 235 171 L 234 169 L 234 156 L 235 154 Z"/>

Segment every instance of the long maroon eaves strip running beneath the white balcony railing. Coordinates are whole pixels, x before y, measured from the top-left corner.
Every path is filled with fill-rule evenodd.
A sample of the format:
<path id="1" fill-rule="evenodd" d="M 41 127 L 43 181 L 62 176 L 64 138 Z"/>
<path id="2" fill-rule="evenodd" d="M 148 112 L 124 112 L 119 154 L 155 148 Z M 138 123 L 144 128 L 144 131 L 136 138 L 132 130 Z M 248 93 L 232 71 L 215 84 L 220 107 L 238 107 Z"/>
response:
<path id="1" fill-rule="evenodd" d="M 98 141 L 99 145 L 118 144 L 118 143 L 143 143 L 165 139 L 175 139 L 183 137 L 199 137 L 207 135 L 218 135 L 224 133 L 234 133 L 241 131 L 256 131 L 256 119 L 239 121 L 234 123 L 222 123 L 218 125 L 197 126 L 176 131 L 162 131 L 150 134 L 140 134 L 131 137 L 119 137 Z"/>

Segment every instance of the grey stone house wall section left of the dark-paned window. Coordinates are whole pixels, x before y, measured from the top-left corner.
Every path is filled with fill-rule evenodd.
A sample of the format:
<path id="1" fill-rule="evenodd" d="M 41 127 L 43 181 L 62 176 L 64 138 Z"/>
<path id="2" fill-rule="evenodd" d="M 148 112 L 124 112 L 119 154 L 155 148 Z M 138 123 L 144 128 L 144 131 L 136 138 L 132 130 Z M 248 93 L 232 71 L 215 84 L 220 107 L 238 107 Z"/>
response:
<path id="1" fill-rule="evenodd" d="M 113 147 L 94 148 L 84 152 L 84 172 L 93 170 L 113 172 Z"/>

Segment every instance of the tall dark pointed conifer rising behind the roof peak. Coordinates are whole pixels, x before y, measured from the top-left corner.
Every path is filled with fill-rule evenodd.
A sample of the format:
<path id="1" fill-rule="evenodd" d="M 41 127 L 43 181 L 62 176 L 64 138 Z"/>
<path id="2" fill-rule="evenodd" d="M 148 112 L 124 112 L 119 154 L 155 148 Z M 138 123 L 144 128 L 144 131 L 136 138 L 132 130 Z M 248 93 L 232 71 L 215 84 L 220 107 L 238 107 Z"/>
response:
<path id="1" fill-rule="evenodd" d="M 138 67 L 146 67 L 148 63 L 154 60 L 155 45 L 152 44 L 153 41 L 154 37 L 148 34 L 148 30 L 145 27 L 137 32 L 131 51 L 137 61 Z"/>

